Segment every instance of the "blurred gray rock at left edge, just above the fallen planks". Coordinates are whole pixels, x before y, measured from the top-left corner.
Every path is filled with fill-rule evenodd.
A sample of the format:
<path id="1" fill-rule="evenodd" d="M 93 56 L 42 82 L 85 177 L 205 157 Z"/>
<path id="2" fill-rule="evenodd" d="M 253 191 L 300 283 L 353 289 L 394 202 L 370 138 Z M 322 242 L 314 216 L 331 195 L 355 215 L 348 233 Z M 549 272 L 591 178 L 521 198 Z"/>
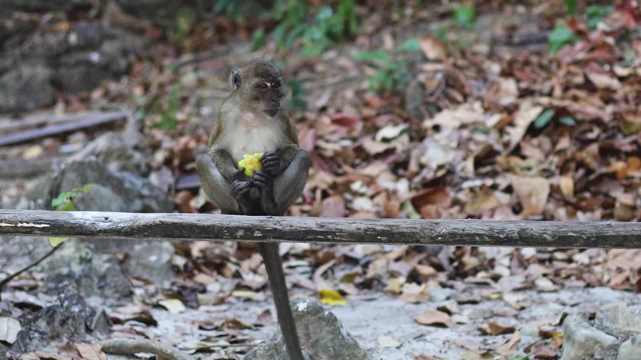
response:
<path id="1" fill-rule="evenodd" d="M 0 113 L 33 110 L 54 102 L 52 72 L 42 65 L 21 65 L 0 76 Z"/>

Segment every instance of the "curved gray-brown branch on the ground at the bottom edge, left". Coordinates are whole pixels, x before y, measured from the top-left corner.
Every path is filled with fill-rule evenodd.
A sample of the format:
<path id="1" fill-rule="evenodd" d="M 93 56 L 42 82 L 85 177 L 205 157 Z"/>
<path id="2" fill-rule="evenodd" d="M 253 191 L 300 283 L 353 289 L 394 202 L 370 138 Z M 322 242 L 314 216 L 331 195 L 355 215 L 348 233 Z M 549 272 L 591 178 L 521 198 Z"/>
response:
<path id="1" fill-rule="evenodd" d="M 139 352 L 154 354 L 158 358 L 168 360 L 191 360 L 187 354 L 171 345 L 146 339 L 111 339 L 101 341 L 104 352 L 119 355 L 133 355 Z"/>

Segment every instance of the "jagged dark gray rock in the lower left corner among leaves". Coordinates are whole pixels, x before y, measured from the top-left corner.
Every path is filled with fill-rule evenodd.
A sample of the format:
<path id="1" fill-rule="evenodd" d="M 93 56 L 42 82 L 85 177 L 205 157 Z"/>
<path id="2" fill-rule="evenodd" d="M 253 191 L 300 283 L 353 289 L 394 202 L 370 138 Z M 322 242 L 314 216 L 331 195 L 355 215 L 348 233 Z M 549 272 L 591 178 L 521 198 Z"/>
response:
<path id="1" fill-rule="evenodd" d="M 58 295 L 56 304 L 38 311 L 23 324 L 13 348 L 28 352 L 54 341 L 74 341 L 87 338 L 87 334 L 101 335 L 109 331 L 110 320 L 104 311 L 87 306 L 78 289 L 68 286 Z"/>

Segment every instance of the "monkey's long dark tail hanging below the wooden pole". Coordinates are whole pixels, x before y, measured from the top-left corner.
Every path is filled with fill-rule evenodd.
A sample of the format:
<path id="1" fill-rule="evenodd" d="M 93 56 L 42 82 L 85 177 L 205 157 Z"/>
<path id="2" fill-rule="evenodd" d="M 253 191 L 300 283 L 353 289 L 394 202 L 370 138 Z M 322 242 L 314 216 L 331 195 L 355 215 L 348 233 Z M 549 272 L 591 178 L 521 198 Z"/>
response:
<path id="1" fill-rule="evenodd" d="M 278 243 L 258 243 L 258 246 L 267 270 L 269 286 L 272 289 L 272 297 L 276 306 L 276 315 L 283 333 L 289 360 L 304 360 L 301 342 L 298 340 L 296 332 L 294 315 L 292 315 L 292 309 L 289 307 L 287 284 L 285 284 L 285 273 L 283 272 L 283 262 L 278 252 Z"/>

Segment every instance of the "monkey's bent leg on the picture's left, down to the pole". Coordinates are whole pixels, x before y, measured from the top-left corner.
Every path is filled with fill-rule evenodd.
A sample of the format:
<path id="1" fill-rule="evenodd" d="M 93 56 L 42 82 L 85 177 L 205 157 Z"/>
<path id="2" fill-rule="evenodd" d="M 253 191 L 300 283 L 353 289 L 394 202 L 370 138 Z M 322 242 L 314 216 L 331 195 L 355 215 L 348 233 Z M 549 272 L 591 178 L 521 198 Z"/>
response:
<path id="1" fill-rule="evenodd" d="M 196 156 L 196 168 L 201 177 L 204 193 L 216 206 L 226 213 L 246 213 L 251 188 L 249 181 L 231 183 L 222 176 L 210 154 Z"/>

